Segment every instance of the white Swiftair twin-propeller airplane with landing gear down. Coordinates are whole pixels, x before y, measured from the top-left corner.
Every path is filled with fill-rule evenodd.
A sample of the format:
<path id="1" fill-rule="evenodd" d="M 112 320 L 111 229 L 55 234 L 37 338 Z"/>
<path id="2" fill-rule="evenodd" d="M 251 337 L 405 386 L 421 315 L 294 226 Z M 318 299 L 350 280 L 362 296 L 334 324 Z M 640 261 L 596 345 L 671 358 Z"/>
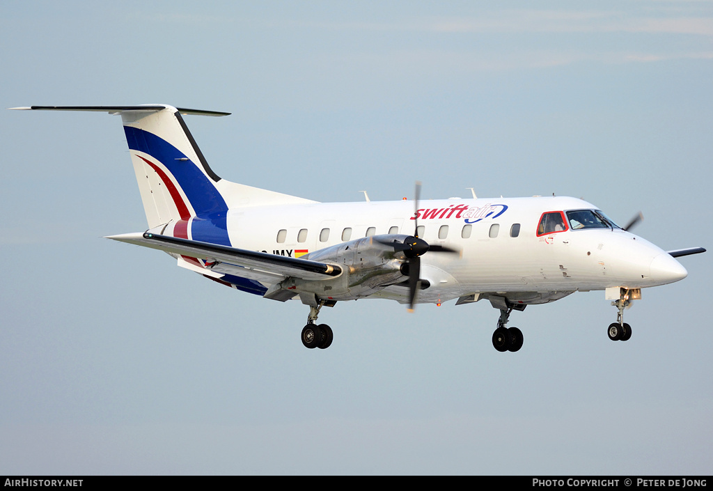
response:
<path id="1" fill-rule="evenodd" d="M 328 348 L 323 307 L 386 298 L 418 303 L 486 300 L 500 311 L 493 347 L 516 352 L 513 310 L 575 291 L 603 290 L 617 308 L 611 340 L 629 340 L 624 310 L 641 289 L 682 280 L 676 260 L 702 247 L 665 251 L 577 198 L 448 198 L 319 203 L 220 178 L 184 115 L 230 113 L 138 106 L 31 106 L 120 115 L 148 229 L 108 238 L 163 250 L 187 270 L 235 290 L 309 307 L 302 343 Z"/>

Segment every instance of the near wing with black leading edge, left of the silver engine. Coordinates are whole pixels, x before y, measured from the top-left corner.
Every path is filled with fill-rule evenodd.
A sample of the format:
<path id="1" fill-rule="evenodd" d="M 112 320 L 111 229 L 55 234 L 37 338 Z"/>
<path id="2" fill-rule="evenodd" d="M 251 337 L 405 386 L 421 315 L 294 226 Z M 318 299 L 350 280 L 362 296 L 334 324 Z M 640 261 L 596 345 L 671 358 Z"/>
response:
<path id="1" fill-rule="evenodd" d="M 199 258 L 208 262 L 217 261 L 220 263 L 220 269 L 225 269 L 225 266 L 228 266 L 235 275 L 265 280 L 267 283 L 277 283 L 288 277 L 302 278 L 303 280 L 324 280 L 342 273 L 342 268 L 339 268 L 338 265 L 190 241 L 185 238 L 162 236 L 158 233 L 125 233 L 107 238 L 136 246 L 163 250 L 167 253 Z"/>

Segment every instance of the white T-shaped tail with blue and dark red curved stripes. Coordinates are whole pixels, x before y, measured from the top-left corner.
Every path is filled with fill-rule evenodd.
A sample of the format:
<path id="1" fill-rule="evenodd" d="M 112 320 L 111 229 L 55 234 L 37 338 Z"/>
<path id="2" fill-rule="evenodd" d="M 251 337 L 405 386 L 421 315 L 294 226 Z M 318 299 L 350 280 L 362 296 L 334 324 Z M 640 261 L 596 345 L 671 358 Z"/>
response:
<path id="1" fill-rule="evenodd" d="M 228 116 L 230 113 L 165 104 L 14 109 L 120 114 L 148 228 L 160 228 L 175 237 L 230 246 L 226 225 L 230 208 L 314 203 L 226 181 L 212 171 L 182 115 Z"/>

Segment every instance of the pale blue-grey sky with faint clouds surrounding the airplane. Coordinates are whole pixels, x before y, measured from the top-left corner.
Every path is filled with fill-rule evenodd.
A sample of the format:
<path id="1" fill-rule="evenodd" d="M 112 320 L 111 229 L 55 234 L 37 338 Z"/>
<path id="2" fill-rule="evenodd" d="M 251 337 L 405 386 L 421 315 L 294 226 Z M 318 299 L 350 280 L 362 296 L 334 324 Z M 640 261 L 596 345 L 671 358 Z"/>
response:
<path id="1" fill-rule="evenodd" d="M 493 5 L 497 5 L 494 7 Z M 317 201 L 583 197 L 711 248 L 713 2 L 0 3 L 0 106 L 170 103 L 231 181 Z M 262 300 L 103 239 L 145 216 L 116 116 L 0 111 L 0 474 L 713 472 L 711 252 L 644 290 Z"/>

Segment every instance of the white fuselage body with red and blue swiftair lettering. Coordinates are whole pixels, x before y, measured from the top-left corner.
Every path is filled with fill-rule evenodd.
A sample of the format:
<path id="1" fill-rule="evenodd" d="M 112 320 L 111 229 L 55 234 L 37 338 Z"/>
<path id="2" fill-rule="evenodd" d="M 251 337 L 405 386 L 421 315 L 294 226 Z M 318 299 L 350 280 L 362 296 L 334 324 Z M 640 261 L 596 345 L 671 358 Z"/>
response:
<path id="1" fill-rule="evenodd" d="M 419 238 L 462 253 L 423 256 L 421 278 L 430 286 L 419 302 L 477 293 L 516 300 L 520 293 L 525 303 L 543 303 L 576 290 L 663 285 L 687 274 L 664 250 L 620 228 L 538 234 L 543 213 L 583 209 L 597 208 L 567 197 L 421 201 Z M 308 259 L 368 235 L 414 235 L 413 217 L 414 201 L 287 204 L 231 209 L 227 230 L 234 247 Z M 553 292 L 562 295 L 537 295 Z M 406 300 L 393 286 L 374 296 Z"/>

